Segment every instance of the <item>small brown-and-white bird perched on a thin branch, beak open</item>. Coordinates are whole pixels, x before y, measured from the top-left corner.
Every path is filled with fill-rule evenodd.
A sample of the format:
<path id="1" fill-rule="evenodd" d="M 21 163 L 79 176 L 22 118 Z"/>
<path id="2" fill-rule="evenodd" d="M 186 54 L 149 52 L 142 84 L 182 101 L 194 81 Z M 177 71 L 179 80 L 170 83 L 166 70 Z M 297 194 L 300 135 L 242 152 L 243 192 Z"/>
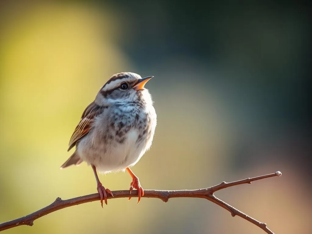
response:
<path id="1" fill-rule="evenodd" d="M 138 191 L 138 202 L 144 196 L 139 178 L 132 172 L 134 166 L 151 147 L 157 124 L 152 96 L 144 85 L 154 76 L 142 78 L 133 72 L 114 74 L 100 88 L 95 100 L 83 112 L 69 142 L 75 152 L 61 166 L 91 165 L 97 182 L 100 202 L 107 205 L 107 193 L 97 172 L 109 173 L 127 170 L 132 177 L 130 194 Z M 130 200 L 131 197 L 129 197 Z"/>

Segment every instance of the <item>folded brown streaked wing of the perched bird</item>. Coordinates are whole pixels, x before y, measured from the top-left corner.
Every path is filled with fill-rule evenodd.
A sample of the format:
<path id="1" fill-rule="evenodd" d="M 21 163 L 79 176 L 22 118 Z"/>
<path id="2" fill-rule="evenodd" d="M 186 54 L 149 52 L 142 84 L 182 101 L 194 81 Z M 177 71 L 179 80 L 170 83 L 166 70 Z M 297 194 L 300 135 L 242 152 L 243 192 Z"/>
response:
<path id="1" fill-rule="evenodd" d="M 71 140 L 69 141 L 69 149 L 67 151 L 70 151 L 71 148 L 76 145 L 77 141 L 90 131 L 94 117 L 101 113 L 101 109 L 102 108 L 99 105 L 96 105 L 94 101 L 87 106 L 81 116 L 79 124 L 71 136 Z"/>

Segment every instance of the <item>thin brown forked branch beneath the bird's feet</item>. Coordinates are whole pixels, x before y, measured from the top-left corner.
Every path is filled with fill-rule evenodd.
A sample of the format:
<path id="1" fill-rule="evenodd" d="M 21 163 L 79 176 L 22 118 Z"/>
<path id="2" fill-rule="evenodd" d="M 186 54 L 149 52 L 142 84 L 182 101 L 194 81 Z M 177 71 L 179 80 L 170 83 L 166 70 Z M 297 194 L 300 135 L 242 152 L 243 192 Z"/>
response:
<path id="1" fill-rule="evenodd" d="M 262 223 L 257 221 L 256 219 L 246 215 L 245 213 L 241 212 L 240 210 L 232 207 L 231 205 L 227 204 L 226 202 L 223 202 L 219 198 L 217 198 L 214 195 L 214 192 L 221 190 L 223 188 L 228 188 L 231 186 L 244 184 L 244 183 L 251 183 L 255 180 L 260 180 L 264 178 L 269 178 L 273 176 L 281 176 L 282 173 L 275 172 L 272 174 L 267 174 L 263 176 L 253 177 L 253 178 L 247 178 L 243 180 L 238 180 L 230 183 L 222 182 L 220 184 L 217 184 L 215 186 L 209 187 L 209 188 L 203 188 L 203 189 L 196 189 L 196 190 L 144 190 L 144 197 L 153 197 L 153 198 L 159 198 L 163 200 L 164 202 L 168 202 L 169 198 L 174 197 L 198 197 L 198 198 L 205 198 L 211 202 L 216 203 L 218 206 L 221 206 L 222 208 L 226 209 L 227 211 L 231 212 L 232 216 L 238 215 L 242 217 L 243 219 L 246 219 L 247 221 L 255 224 L 256 226 L 263 229 L 266 233 L 274 234 L 268 227 L 266 227 L 266 223 Z M 110 194 L 108 194 L 107 199 L 113 199 L 113 198 L 122 198 L 122 197 L 138 197 L 137 191 L 133 191 L 131 194 L 129 190 L 122 190 L 122 191 L 113 191 L 114 197 L 112 197 Z M 56 198 L 56 200 L 49 206 L 42 208 L 41 210 L 38 210 L 36 212 L 33 212 L 32 214 L 29 214 L 27 216 L 14 219 L 12 221 L 4 222 L 0 224 L 0 231 L 17 227 L 21 225 L 28 225 L 32 226 L 33 222 L 47 214 L 50 214 L 54 211 L 79 205 L 86 202 L 94 202 L 100 200 L 100 196 L 98 193 L 85 195 L 82 197 L 75 197 L 67 200 L 62 200 L 60 197 Z"/>

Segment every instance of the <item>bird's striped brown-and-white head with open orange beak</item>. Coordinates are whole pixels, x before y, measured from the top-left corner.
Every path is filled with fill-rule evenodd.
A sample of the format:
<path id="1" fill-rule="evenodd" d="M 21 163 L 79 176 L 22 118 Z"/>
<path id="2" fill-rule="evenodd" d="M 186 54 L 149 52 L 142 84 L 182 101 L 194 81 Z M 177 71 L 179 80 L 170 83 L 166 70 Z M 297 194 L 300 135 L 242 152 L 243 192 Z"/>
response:
<path id="1" fill-rule="evenodd" d="M 100 89 L 95 102 L 98 105 L 114 103 L 151 102 L 149 91 L 144 88 L 153 76 L 141 78 L 133 72 L 121 72 L 113 75 Z"/>

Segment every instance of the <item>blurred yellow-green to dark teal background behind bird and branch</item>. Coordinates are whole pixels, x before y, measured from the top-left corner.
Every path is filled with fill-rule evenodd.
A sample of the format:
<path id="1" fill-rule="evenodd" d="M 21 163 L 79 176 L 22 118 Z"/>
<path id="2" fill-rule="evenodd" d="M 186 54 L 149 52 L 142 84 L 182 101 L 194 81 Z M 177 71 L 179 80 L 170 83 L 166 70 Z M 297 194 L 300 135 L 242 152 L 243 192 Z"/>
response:
<path id="1" fill-rule="evenodd" d="M 258 3 L 257 3 L 258 2 Z M 144 189 L 216 195 L 276 233 L 311 233 L 311 4 L 252 1 L 0 3 L 0 222 L 96 193 L 60 170 L 85 107 L 114 73 L 147 84 L 158 126 L 134 166 Z M 129 188 L 127 173 L 101 175 Z M 264 233 L 212 202 L 127 198 L 53 212 L 6 233 Z"/>

